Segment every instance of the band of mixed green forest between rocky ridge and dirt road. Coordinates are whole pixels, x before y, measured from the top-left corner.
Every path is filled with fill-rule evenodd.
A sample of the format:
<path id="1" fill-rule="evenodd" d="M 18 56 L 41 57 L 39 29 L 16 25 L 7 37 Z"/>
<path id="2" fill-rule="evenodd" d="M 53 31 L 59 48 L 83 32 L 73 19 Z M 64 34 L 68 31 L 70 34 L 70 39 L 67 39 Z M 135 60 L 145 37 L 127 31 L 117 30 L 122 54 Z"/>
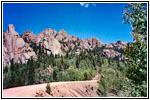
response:
<path id="1" fill-rule="evenodd" d="M 4 88 L 40 84 L 47 80 L 51 82 L 90 80 L 96 75 L 99 67 L 109 67 L 106 58 L 92 52 L 81 52 L 78 56 L 68 54 L 68 57 L 42 55 L 39 55 L 36 61 L 31 58 L 26 64 L 14 64 L 12 60 L 11 67 L 4 67 Z M 98 66 L 99 62 L 101 66 Z M 53 68 L 53 73 L 47 75 L 45 69 L 49 65 Z"/>

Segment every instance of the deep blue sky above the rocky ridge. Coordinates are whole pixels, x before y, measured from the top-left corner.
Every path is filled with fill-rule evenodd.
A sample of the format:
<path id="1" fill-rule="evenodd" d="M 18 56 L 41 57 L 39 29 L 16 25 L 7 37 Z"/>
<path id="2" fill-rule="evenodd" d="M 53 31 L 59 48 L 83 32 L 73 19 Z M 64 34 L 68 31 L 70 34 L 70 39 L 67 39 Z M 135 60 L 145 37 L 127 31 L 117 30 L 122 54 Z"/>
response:
<path id="1" fill-rule="evenodd" d="M 132 42 L 131 25 L 123 24 L 125 3 L 4 3 L 3 30 L 14 24 L 22 34 L 46 28 L 86 39 L 96 37 L 103 43 L 117 40 Z"/>

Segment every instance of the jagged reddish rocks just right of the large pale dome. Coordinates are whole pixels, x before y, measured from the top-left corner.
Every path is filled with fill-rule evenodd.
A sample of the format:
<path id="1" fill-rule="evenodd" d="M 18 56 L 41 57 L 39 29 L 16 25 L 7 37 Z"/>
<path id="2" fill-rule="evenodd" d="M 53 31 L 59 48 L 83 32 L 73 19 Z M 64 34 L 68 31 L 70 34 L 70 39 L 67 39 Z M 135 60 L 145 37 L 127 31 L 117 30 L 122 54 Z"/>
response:
<path id="1" fill-rule="evenodd" d="M 90 38 L 86 40 L 82 40 L 80 38 L 76 38 L 74 36 L 67 35 L 67 32 L 61 30 L 57 33 L 56 39 L 61 44 L 61 49 L 63 51 L 74 51 L 76 53 L 80 53 L 80 51 L 92 50 L 95 47 L 101 47 L 102 42 L 100 42 L 96 38 Z"/>

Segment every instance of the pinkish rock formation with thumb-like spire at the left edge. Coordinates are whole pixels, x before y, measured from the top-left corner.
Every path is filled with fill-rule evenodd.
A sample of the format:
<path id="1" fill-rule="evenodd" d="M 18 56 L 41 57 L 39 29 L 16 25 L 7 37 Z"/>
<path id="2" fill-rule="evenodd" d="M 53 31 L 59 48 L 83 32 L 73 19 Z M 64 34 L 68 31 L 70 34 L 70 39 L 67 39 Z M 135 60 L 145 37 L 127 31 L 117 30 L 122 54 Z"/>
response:
<path id="1" fill-rule="evenodd" d="M 14 63 L 26 63 L 32 56 L 37 59 L 35 52 L 15 31 L 12 24 L 8 26 L 7 32 L 3 34 L 3 65 L 10 65 L 13 59 Z"/>

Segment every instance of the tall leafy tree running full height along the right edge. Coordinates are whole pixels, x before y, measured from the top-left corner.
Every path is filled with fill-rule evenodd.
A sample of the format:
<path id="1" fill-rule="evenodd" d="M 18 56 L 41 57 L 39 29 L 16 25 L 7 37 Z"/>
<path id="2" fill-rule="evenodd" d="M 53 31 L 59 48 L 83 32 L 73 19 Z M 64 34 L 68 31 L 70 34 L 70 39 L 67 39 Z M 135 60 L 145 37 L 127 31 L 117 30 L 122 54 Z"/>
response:
<path id="1" fill-rule="evenodd" d="M 125 9 L 124 23 L 132 25 L 134 39 L 125 50 L 127 76 L 132 80 L 129 91 L 131 96 L 147 96 L 147 4 L 129 4 Z"/>

